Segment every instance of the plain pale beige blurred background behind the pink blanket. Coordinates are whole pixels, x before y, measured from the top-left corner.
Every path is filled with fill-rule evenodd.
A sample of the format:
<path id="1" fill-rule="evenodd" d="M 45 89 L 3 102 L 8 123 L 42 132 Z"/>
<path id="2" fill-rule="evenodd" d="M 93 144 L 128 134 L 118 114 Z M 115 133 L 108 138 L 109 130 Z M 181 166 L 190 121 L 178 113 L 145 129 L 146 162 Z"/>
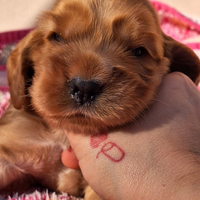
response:
<path id="1" fill-rule="evenodd" d="M 123 0 L 122 0 L 123 1 Z M 42 10 L 55 0 L 0 0 L 0 32 L 34 27 Z M 200 0 L 160 0 L 184 15 L 200 19 Z"/>

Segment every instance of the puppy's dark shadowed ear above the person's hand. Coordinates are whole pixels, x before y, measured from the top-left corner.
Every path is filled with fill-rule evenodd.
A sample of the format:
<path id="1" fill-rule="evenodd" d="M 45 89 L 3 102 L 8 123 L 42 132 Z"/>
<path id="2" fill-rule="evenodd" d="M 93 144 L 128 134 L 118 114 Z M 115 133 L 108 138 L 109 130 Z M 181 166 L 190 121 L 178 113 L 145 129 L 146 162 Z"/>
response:
<path id="1" fill-rule="evenodd" d="M 178 71 L 186 74 L 198 84 L 200 81 L 200 60 L 186 45 L 164 35 L 165 56 L 170 60 L 170 72 Z"/>

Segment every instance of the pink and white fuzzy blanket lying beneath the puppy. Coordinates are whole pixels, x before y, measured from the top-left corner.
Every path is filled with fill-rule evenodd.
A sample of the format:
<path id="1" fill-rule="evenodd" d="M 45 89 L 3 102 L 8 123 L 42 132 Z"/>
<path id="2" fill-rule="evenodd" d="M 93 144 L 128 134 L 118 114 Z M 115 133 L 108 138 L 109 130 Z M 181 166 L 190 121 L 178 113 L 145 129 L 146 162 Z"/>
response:
<path id="1" fill-rule="evenodd" d="M 200 57 L 200 20 L 184 16 L 173 8 L 158 1 L 152 1 L 158 11 L 160 23 L 163 31 L 174 39 L 188 45 Z M 0 33 L 0 117 L 9 105 L 9 90 L 6 79 L 5 62 L 9 52 L 13 49 L 13 44 L 24 37 L 29 30 Z M 1 183 L 0 183 L 1 184 Z M 13 200 L 69 200 L 78 199 L 69 197 L 66 193 L 56 194 L 45 192 L 31 192 L 22 196 L 15 194 L 8 197 Z M 0 197 L 1 200 L 1 197 Z"/>

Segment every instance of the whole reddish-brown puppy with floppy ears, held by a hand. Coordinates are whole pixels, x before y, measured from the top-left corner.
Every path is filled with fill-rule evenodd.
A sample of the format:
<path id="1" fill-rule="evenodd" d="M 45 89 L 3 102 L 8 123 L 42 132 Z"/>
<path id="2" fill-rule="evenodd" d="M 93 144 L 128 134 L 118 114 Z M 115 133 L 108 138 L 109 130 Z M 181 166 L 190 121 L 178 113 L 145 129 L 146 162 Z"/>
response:
<path id="1" fill-rule="evenodd" d="M 24 190 L 21 180 L 81 195 L 81 173 L 60 162 L 62 130 L 95 135 L 132 122 L 165 74 L 179 71 L 197 84 L 200 62 L 162 32 L 147 0 L 58 0 L 19 42 L 7 71 L 0 190 Z"/>

